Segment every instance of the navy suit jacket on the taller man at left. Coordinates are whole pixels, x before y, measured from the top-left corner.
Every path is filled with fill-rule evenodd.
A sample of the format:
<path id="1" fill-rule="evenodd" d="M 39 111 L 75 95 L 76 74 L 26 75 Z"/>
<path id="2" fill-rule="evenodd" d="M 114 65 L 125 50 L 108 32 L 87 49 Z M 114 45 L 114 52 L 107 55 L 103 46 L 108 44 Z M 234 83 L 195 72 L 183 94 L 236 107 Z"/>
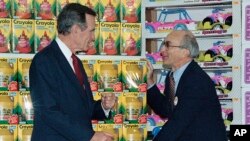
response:
<path id="1" fill-rule="evenodd" d="M 84 88 L 56 41 L 37 53 L 30 67 L 34 107 L 32 141 L 89 141 L 91 119 L 105 119 L 100 101 L 93 100 L 83 69 Z"/>

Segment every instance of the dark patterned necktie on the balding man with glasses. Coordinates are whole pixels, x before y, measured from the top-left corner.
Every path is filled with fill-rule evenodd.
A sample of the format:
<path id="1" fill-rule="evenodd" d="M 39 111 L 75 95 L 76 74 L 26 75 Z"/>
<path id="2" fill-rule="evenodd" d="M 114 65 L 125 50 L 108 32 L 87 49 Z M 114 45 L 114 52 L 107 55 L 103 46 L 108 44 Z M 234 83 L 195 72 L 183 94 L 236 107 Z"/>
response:
<path id="1" fill-rule="evenodd" d="M 170 72 L 169 74 L 169 101 L 172 110 L 174 108 L 174 96 L 175 96 L 175 81 L 173 74 L 174 74 L 173 72 Z"/>

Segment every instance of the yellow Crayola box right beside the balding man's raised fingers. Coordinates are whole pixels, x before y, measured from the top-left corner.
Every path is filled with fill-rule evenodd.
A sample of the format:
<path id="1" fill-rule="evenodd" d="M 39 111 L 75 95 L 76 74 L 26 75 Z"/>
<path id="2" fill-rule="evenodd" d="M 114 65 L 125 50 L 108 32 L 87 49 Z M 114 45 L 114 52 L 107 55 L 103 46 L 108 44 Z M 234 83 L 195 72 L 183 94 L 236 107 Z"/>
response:
<path id="1" fill-rule="evenodd" d="M 124 91 L 146 92 L 147 91 L 147 63 L 146 61 L 123 60 L 122 81 Z"/>

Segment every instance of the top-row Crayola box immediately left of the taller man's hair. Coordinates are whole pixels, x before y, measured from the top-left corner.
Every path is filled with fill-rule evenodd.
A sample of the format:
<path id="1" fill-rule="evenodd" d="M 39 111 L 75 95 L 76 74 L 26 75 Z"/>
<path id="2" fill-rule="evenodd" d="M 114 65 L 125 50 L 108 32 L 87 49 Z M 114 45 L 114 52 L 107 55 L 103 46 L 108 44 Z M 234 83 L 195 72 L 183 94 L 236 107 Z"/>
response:
<path id="1" fill-rule="evenodd" d="M 35 19 L 51 20 L 56 18 L 56 0 L 35 0 Z"/>

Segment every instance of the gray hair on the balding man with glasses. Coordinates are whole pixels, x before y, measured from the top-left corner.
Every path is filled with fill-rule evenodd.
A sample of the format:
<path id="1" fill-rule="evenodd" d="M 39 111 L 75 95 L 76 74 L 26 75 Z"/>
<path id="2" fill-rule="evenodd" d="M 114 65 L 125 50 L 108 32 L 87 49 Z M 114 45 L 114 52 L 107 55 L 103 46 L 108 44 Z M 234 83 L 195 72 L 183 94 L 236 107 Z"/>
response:
<path id="1" fill-rule="evenodd" d="M 190 57 L 195 58 L 199 55 L 199 45 L 195 36 L 190 31 L 185 31 L 185 35 L 181 41 L 183 48 L 186 48 L 190 52 Z"/>

